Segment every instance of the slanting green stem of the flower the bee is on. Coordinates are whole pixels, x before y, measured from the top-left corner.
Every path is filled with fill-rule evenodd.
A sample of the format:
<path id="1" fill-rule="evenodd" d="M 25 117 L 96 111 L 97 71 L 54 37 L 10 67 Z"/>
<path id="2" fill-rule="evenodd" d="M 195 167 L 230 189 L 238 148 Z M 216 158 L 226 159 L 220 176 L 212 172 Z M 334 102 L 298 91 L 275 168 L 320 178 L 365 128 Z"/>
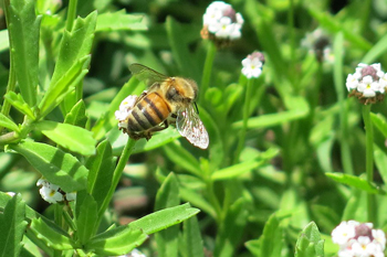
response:
<path id="1" fill-rule="evenodd" d="M 98 223 L 97 224 L 100 224 L 104 212 L 106 211 L 108 204 L 111 203 L 113 194 L 114 194 L 114 192 L 115 192 L 115 190 L 116 190 L 116 188 L 118 185 L 121 175 L 123 174 L 124 168 L 126 165 L 127 160 L 130 157 L 130 153 L 133 151 L 133 148 L 134 148 L 135 143 L 136 143 L 135 140 L 128 138 L 128 140 L 126 142 L 126 146 L 125 146 L 123 152 L 121 153 L 118 164 L 116 165 L 116 169 L 114 170 L 114 173 L 113 173 L 113 180 L 112 180 L 111 189 L 108 190 L 107 196 L 105 197 L 105 200 L 104 200 L 104 202 L 103 202 L 103 204 L 101 206 L 101 210 L 98 212 Z"/>

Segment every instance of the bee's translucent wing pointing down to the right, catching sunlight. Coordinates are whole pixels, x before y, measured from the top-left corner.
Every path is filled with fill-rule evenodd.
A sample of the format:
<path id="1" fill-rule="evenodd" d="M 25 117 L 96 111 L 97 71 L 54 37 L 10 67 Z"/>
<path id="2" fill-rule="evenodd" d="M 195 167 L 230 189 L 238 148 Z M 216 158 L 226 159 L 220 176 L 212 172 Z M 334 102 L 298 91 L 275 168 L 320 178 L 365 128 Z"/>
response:
<path id="1" fill-rule="evenodd" d="M 208 132 L 192 105 L 178 111 L 176 128 L 195 147 L 207 149 L 209 143 Z"/>

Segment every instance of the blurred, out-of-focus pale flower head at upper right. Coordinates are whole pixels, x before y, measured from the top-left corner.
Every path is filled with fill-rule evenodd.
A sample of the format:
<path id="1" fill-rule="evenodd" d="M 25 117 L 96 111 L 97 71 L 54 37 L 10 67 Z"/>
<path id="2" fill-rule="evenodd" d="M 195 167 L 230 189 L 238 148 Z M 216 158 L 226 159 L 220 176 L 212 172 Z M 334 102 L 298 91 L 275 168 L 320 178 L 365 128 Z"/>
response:
<path id="1" fill-rule="evenodd" d="M 301 46 L 307 49 L 310 53 L 315 54 L 318 62 L 333 63 L 335 57 L 332 52 L 331 39 L 322 30 L 316 29 L 311 33 L 306 33 L 301 41 Z"/>

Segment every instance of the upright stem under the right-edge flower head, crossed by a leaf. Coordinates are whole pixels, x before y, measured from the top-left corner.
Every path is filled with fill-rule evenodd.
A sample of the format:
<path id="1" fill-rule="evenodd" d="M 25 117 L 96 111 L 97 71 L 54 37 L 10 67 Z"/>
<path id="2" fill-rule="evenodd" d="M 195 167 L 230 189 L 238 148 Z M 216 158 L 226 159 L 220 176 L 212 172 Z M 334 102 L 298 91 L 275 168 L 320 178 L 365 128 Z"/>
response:
<path id="1" fill-rule="evenodd" d="M 363 106 L 363 120 L 366 130 L 366 174 L 367 181 L 372 183 L 374 181 L 374 131 L 370 120 L 370 105 Z M 370 193 L 367 195 L 367 212 L 368 222 L 375 223 L 375 195 Z"/>

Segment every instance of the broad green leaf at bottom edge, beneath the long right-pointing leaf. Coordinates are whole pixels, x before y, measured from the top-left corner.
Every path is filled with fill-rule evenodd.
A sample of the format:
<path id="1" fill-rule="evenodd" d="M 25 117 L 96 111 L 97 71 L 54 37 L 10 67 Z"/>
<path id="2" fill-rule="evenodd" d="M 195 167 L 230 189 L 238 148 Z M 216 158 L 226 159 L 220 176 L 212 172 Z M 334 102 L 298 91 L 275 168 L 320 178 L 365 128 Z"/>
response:
<path id="1" fill-rule="evenodd" d="M 119 226 L 93 237 L 83 248 L 102 256 L 125 255 L 142 245 L 148 236 L 132 225 Z"/>

